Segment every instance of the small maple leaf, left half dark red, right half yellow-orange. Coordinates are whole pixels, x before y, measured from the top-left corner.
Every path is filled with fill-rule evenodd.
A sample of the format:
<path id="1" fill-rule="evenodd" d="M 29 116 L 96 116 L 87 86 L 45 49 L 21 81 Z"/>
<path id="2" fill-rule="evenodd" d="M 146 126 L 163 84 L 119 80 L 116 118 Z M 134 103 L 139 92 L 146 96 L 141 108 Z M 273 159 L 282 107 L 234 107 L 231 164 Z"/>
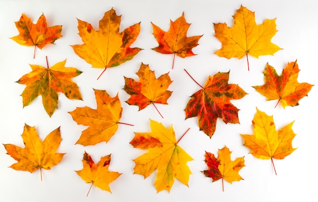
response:
<path id="1" fill-rule="evenodd" d="M 244 164 L 244 156 L 231 160 L 231 151 L 227 146 L 218 150 L 218 157 L 215 158 L 214 154 L 205 152 L 205 162 L 208 170 L 203 171 L 206 177 L 212 178 L 212 182 L 222 179 L 222 189 L 224 191 L 224 180 L 232 184 L 234 181 L 243 180 L 239 175 L 239 171 Z"/>

